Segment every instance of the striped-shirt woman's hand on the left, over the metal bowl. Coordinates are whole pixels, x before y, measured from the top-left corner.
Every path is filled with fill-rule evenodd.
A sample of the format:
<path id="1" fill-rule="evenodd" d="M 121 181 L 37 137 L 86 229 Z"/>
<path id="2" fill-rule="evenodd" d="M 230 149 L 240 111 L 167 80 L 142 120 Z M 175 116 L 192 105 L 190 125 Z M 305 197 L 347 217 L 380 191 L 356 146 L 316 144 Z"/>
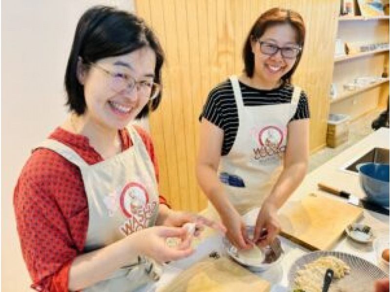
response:
<path id="1" fill-rule="evenodd" d="M 221 215 L 221 218 L 227 229 L 226 237 L 237 249 L 250 250 L 253 248 L 253 243 L 248 237 L 246 225 L 236 210 L 229 212 L 229 214 Z"/>

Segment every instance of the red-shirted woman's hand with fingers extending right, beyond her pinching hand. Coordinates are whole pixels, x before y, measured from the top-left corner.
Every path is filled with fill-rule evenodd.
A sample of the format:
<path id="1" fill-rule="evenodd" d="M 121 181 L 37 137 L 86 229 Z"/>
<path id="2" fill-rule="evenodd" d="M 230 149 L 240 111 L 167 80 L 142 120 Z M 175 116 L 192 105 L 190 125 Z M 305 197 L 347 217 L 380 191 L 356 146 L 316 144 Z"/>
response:
<path id="1" fill-rule="evenodd" d="M 221 223 L 217 223 L 194 213 L 175 211 L 172 209 L 165 212 L 164 217 L 160 222 L 161 225 L 168 227 L 182 227 L 186 223 L 195 223 L 195 236 L 198 236 L 205 226 L 223 233 L 226 232 L 226 228 Z"/>

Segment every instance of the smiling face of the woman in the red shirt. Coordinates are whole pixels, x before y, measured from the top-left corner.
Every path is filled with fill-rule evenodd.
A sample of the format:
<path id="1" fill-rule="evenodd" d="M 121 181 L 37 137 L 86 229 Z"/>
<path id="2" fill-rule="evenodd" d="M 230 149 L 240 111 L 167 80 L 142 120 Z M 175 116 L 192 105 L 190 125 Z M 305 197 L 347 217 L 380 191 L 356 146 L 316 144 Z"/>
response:
<path id="1" fill-rule="evenodd" d="M 77 77 L 84 86 L 88 108 L 82 119 L 78 119 L 79 123 L 93 121 L 116 129 L 124 128 L 137 116 L 146 115 L 148 102 L 159 93 L 155 90 L 152 96 L 152 87 L 159 86 L 153 85 L 155 67 L 156 54 L 149 47 L 95 63 L 83 62 L 79 57 Z M 142 110 L 144 113 L 139 114 Z"/>

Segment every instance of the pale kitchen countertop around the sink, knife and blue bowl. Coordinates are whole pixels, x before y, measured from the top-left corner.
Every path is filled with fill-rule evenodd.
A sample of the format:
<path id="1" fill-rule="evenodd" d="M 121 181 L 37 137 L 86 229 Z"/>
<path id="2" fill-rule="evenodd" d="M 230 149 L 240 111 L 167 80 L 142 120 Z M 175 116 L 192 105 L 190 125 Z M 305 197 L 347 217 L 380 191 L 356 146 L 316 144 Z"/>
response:
<path id="1" fill-rule="evenodd" d="M 319 182 L 347 191 L 359 198 L 363 198 L 365 194 L 360 187 L 358 173 L 345 171 L 343 168 L 350 165 L 373 147 L 389 148 L 389 133 L 389 129 L 380 128 L 359 143 L 356 143 L 333 157 L 321 167 L 314 169 L 305 177 L 299 188 L 297 188 L 289 198 L 289 201 L 300 200 L 306 194 L 315 192 L 329 196 L 332 199 L 346 202 L 343 198 L 319 190 L 317 187 Z M 363 218 L 359 223 L 369 225 L 377 238 L 382 236 L 385 236 L 386 238 L 389 237 L 389 216 L 364 209 Z M 364 258 L 375 265 L 378 264 L 375 250 L 373 250 L 371 245 L 356 243 L 346 236 L 342 237 L 334 246 L 333 250 L 351 253 Z"/>

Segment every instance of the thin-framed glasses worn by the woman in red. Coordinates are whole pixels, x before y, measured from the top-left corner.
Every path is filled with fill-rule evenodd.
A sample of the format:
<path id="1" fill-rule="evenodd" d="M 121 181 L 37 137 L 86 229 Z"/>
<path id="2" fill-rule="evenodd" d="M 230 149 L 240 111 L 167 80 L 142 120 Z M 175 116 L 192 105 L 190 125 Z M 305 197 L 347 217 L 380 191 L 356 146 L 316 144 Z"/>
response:
<path id="1" fill-rule="evenodd" d="M 125 93 L 130 95 L 137 88 L 138 94 L 148 97 L 150 100 L 154 100 L 158 96 L 158 93 L 160 93 L 161 86 L 158 83 L 148 80 L 137 81 L 128 74 L 112 72 L 97 63 L 92 63 L 92 65 L 110 76 L 108 84 L 117 93 L 125 90 Z"/>

